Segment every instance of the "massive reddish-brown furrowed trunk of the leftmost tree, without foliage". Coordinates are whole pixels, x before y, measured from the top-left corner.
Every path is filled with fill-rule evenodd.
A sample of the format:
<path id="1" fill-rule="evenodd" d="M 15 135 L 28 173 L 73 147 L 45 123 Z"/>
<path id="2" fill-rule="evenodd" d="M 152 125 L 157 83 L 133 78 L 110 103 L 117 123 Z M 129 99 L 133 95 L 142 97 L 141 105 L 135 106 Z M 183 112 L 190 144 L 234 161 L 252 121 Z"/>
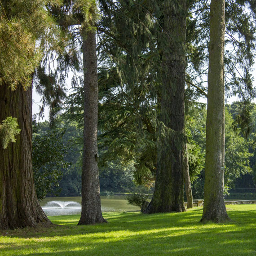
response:
<path id="1" fill-rule="evenodd" d="M 32 88 L 0 86 L 0 123 L 18 119 L 20 134 L 7 149 L 0 146 L 0 229 L 50 225 L 35 193 L 32 170 Z"/>

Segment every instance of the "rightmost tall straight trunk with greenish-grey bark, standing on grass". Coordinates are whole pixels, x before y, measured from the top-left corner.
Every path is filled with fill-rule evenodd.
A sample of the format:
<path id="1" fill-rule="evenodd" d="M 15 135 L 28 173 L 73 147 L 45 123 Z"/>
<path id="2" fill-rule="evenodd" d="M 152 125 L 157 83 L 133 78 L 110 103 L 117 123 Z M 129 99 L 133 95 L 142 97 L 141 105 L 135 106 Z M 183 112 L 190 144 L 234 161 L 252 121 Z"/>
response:
<path id="1" fill-rule="evenodd" d="M 206 120 L 206 159 L 201 221 L 229 220 L 223 185 L 225 0 L 212 0 L 210 11 L 209 71 Z"/>

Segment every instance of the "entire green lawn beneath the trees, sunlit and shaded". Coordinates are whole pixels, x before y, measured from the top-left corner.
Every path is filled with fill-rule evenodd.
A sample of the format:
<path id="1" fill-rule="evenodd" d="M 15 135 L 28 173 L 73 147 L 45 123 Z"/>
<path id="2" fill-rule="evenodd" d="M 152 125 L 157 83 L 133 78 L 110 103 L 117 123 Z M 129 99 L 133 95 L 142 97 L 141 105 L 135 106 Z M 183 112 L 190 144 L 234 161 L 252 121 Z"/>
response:
<path id="1" fill-rule="evenodd" d="M 105 213 L 108 223 L 77 226 L 78 215 L 54 216 L 61 226 L 0 231 L 0 255 L 252 255 L 256 205 L 227 205 L 232 221 L 201 224 L 202 207 L 182 213 Z"/>

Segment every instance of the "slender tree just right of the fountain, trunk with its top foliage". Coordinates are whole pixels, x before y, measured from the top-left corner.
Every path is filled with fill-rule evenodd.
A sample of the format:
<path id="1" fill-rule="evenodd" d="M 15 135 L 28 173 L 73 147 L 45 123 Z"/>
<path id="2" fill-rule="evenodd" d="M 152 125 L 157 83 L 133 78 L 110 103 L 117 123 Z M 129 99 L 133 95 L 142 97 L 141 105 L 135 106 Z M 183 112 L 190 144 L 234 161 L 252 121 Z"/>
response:
<path id="1" fill-rule="evenodd" d="M 82 42 L 84 72 L 84 155 L 82 172 L 82 212 L 78 225 L 106 222 L 102 216 L 97 152 L 98 84 L 95 26 L 95 0 L 63 1 L 50 10 L 73 41 Z M 71 26 L 79 28 L 72 30 Z M 74 49 L 73 49 L 74 50 Z M 67 62 L 74 65 L 72 59 Z"/>

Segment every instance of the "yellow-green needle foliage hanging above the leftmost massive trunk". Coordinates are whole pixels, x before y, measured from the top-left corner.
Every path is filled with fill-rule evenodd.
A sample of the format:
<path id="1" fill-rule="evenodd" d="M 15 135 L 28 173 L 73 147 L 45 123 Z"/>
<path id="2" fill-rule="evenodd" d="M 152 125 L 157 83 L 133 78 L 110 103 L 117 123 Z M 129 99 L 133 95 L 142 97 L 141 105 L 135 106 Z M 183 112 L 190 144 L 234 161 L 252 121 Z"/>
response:
<path id="1" fill-rule="evenodd" d="M 0 1 L 0 85 L 8 84 L 11 89 L 19 84 L 25 89 L 31 85 L 31 74 L 42 57 L 36 40 L 44 33 L 56 30 L 47 15 L 46 2 Z"/>

